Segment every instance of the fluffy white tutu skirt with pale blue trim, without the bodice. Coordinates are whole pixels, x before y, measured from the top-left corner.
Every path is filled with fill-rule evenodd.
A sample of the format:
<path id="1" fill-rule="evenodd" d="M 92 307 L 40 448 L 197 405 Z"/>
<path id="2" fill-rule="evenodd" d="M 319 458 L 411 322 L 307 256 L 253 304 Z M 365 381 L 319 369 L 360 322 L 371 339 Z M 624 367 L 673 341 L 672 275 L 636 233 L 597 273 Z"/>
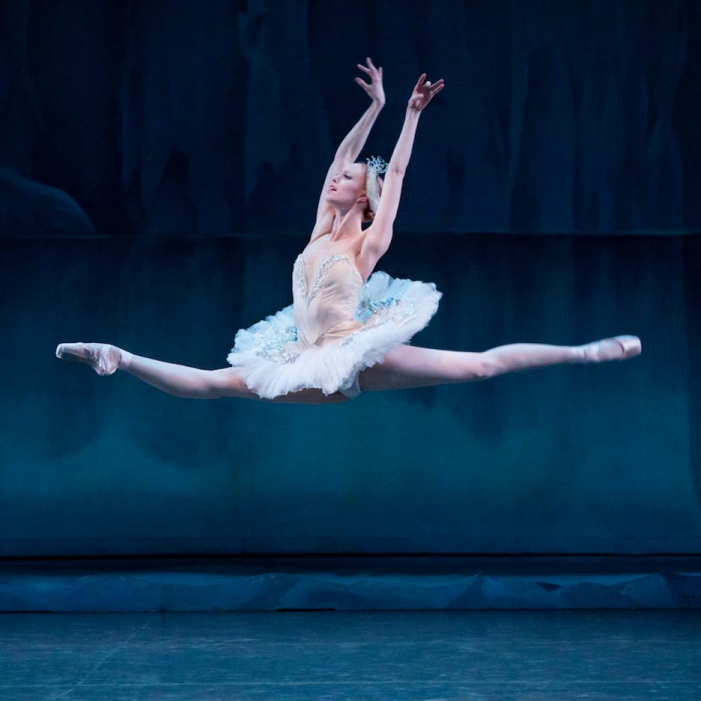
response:
<path id="1" fill-rule="evenodd" d="M 301 350 L 294 305 L 236 334 L 226 360 L 257 395 L 273 399 L 305 388 L 326 395 L 353 385 L 358 372 L 421 331 L 438 309 L 434 283 L 373 273 L 362 286 L 353 319 L 362 326 L 340 339 Z"/>

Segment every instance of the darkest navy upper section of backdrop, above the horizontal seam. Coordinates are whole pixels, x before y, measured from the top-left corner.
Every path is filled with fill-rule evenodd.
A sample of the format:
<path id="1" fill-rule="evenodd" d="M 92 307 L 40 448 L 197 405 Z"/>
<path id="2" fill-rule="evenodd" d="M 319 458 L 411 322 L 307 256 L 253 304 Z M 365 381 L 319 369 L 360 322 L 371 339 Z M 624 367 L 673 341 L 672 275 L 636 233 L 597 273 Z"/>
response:
<path id="1" fill-rule="evenodd" d="M 402 231 L 701 224 L 695 0 L 0 8 L 0 164 L 23 178 L 0 177 L 10 235 L 50 233 L 41 212 L 59 193 L 31 181 L 73 198 L 59 229 L 83 231 L 83 211 L 101 233 L 309 231 L 367 104 L 353 82 L 366 55 L 383 66 L 387 107 L 364 156 L 389 158 L 422 71 L 447 82 L 418 128 Z"/>

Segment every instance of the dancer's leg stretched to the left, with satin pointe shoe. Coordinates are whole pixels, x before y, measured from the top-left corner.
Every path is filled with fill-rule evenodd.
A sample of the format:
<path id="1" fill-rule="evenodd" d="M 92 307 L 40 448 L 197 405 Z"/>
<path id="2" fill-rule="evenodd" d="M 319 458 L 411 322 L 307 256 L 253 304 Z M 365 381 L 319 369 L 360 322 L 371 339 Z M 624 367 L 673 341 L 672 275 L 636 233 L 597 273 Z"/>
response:
<path id="1" fill-rule="evenodd" d="M 144 358 L 109 343 L 61 343 L 56 348 L 58 358 L 86 362 L 100 375 L 123 370 L 130 375 L 176 397 L 189 399 L 218 399 L 239 397 L 278 404 L 336 404 L 348 401 L 341 393 L 325 395 L 309 389 L 290 393 L 274 400 L 261 398 L 248 388 L 234 367 L 203 370 L 187 365 Z"/>

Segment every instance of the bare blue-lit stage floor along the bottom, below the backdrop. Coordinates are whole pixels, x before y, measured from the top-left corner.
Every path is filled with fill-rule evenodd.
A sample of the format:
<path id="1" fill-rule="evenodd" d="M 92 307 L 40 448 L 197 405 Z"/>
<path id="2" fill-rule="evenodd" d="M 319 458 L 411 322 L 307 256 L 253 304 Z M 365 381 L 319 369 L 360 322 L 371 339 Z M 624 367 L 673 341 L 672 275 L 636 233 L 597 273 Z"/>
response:
<path id="1" fill-rule="evenodd" d="M 685 701 L 701 611 L 0 614 L 3 701 Z"/>

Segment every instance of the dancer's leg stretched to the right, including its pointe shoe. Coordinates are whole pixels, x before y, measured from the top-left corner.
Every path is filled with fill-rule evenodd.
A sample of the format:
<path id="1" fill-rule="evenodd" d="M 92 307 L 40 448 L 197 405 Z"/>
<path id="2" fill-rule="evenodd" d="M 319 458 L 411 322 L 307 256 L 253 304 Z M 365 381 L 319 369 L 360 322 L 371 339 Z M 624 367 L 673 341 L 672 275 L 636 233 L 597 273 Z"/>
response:
<path id="1" fill-rule="evenodd" d="M 400 346 L 390 351 L 383 362 L 362 371 L 360 388 L 397 390 L 473 382 L 547 365 L 623 360 L 640 351 L 637 336 L 615 336 L 584 346 L 510 343 L 482 353 Z"/>

